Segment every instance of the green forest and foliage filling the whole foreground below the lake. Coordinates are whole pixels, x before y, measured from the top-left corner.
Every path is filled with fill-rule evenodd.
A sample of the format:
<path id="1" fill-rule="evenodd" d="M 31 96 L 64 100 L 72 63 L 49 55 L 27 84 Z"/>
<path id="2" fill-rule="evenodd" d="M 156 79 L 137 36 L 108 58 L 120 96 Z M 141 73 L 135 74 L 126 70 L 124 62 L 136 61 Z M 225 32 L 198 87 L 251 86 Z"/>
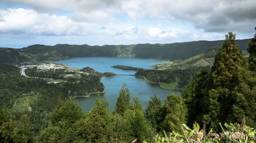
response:
<path id="1" fill-rule="evenodd" d="M 40 78 L 21 76 L 15 66 L 1 64 L 0 141 L 253 143 L 256 36 L 249 43 L 249 61 L 235 38 L 232 32 L 226 35 L 213 66 L 190 78 L 181 96 L 167 95 L 162 103 L 155 94 L 145 112 L 138 97 L 131 100 L 125 84 L 113 113 L 102 98 L 97 98 L 90 112 L 84 112 L 72 97 L 102 91 L 99 76 L 81 74 L 68 82 L 47 84 Z M 89 67 L 81 70 L 93 71 Z"/>

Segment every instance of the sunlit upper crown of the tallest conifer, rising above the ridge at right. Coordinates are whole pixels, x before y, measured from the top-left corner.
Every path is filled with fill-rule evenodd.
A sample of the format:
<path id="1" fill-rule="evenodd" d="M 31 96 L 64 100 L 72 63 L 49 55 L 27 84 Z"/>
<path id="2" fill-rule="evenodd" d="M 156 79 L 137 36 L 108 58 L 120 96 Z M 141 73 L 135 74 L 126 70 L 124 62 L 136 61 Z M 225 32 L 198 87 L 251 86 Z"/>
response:
<path id="1" fill-rule="evenodd" d="M 212 85 L 215 88 L 233 89 L 242 81 L 241 69 L 245 67 L 245 61 L 235 39 L 236 34 L 229 32 L 222 48 L 216 53 L 211 70 Z"/>

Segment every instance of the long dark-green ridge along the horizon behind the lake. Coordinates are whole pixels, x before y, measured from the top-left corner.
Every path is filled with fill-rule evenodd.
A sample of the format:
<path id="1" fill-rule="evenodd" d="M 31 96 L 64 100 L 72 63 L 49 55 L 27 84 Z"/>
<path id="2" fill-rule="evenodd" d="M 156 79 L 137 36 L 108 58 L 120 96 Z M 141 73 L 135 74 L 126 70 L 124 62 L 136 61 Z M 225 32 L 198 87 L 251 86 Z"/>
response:
<path id="1" fill-rule="evenodd" d="M 247 49 L 249 40 L 250 39 L 236 40 L 240 50 Z M 1 53 L 0 62 L 43 62 L 65 60 L 75 57 L 92 56 L 132 56 L 137 58 L 184 60 L 191 58 L 192 56 L 195 56 L 197 54 L 203 53 L 207 49 L 221 47 L 222 42 L 223 40 L 193 41 L 171 44 L 136 44 L 103 46 L 90 46 L 86 44 L 57 44 L 55 46 L 31 45 L 22 49 L 4 48 L 4 50 L 9 49 L 12 52 L 9 52 L 7 55 Z M 14 57 L 16 57 L 17 59 Z M 8 60 L 5 58 L 7 58 Z"/>

